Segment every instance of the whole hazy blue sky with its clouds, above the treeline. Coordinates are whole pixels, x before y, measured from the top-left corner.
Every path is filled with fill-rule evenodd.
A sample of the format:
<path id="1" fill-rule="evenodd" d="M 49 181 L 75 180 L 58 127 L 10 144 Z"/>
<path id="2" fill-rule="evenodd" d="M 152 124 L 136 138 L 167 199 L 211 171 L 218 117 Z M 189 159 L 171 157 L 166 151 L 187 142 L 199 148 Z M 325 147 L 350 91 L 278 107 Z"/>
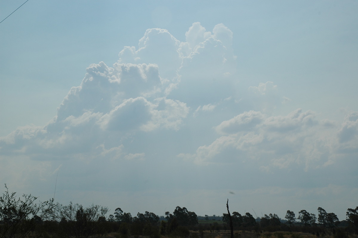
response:
<path id="1" fill-rule="evenodd" d="M 24 1 L 1 1 L 1 20 Z M 0 181 L 164 215 L 358 205 L 357 1 L 29 0 L 0 24 Z M 3 188 L 5 190 L 5 188 Z"/>

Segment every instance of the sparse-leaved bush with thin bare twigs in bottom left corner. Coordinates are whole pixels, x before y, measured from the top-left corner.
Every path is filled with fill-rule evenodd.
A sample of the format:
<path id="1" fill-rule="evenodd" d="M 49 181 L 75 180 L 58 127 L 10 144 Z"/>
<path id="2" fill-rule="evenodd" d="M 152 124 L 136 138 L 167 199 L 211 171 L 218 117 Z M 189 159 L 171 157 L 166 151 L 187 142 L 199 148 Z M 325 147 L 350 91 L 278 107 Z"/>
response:
<path id="1" fill-rule="evenodd" d="M 48 219 L 53 213 L 53 199 L 36 203 L 37 197 L 23 194 L 16 198 L 16 192 L 9 193 L 5 184 L 5 193 L 0 197 L 0 238 L 28 237 L 42 219 Z"/>

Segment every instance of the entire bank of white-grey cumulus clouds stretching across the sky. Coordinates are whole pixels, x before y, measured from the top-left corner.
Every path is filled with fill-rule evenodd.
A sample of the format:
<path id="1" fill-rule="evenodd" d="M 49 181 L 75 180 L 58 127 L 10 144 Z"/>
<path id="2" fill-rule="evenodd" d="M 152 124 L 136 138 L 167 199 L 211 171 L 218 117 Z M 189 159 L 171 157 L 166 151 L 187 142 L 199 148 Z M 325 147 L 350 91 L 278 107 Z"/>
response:
<path id="1" fill-rule="evenodd" d="M 357 154 L 357 112 L 347 113 L 343 123 L 318 119 L 310 110 L 275 114 L 290 99 L 271 81 L 238 93 L 232 40 L 223 24 L 208 31 L 193 23 L 185 42 L 165 29 L 146 30 L 138 47 L 124 47 L 111 67 L 89 65 L 47 125 L 19 127 L 0 138 L 1 164 L 10 171 L 19 162 L 22 173 L 6 172 L 2 178 L 15 176 L 24 183 L 40 174 L 43 180 L 66 160 L 71 166 L 61 169 L 99 188 L 101 182 L 90 174 L 118 183 L 136 171 L 142 177 L 123 185 L 132 189 L 145 176 L 154 180 L 149 166 L 168 178 L 179 176 L 171 174 L 174 170 L 192 169 L 194 181 L 192 162 L 214 164 L 212 173 L 216 165 L 228 164 L 226 169 L 240 164 L 265 174 L 309 173 Z"/>

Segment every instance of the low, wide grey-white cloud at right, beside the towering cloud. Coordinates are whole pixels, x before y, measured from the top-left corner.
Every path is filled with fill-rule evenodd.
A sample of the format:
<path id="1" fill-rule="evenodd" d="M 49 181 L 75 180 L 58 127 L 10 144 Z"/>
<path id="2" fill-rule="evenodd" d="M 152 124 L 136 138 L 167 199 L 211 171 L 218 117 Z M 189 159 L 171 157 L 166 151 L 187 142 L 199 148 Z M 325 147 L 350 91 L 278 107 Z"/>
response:
<path id="1" fill-rule="evenodd" d="M 243 112 L 216 126 L 217 133 L 225 136 L 198 147 L 194 154 L 179 156 L 198 164 L 252 159 L 259 161 L 260 169 L 266 172 L 274 168 L 291 169 L 294 165 L 307 171 L 339 161 L 342 148 L 357 149 L 356 118 L 357 114 L 350 112 L 339 129 L 326 120 L 316 119 L 314 112 L 301 109 L 286 116 Z"/>

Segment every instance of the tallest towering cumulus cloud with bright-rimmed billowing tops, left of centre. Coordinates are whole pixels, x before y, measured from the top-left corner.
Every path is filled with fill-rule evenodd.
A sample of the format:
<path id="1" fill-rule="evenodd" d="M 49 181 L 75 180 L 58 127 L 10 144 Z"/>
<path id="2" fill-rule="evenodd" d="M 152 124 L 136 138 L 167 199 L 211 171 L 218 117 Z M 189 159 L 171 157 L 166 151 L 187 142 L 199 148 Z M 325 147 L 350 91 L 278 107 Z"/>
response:
<path id="1" fill-rule="evenodd" d="M 137 157 L 142 151 L 126 151 L 125 146 L 137 132 L 178 131 L 193 106 L 213 112 L 217 101 L 227 97 L 224 75 L 234 70 L 227 63 L 234 61 L 232 32 L 223 24 L 210 32 L 194 23 L 185 37 L 180 42 L 168 30 L 148 29 L 138 48 L 124 47 L 112 67 L 89 65 L 53 120 L 43 127 L 19 127 L 1 138 L 1 153 L 39 160 L 81 153 Z M 206 78 L 213 74 L 218 77 L 214 86 Z M 221 92 L 212 94 L 213 87 Z"/>

